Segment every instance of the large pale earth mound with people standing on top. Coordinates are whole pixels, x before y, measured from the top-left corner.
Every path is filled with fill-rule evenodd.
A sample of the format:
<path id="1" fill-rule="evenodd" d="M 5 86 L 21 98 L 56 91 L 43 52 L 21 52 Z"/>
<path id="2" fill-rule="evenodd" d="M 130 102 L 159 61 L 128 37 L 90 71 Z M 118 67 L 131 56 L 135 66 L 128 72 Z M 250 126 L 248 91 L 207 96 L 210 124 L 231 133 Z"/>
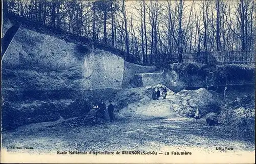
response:
<path id="1" fill-rule="evenodd" d="M 205 88 L 197 90 L 182 90 L 178 93 L 167 89 L 166 99 L 152 99 L 153 89 L 162 89 L 165 86 L 158 84 L 141 88 L 124 89 L 117 93 L 113 102 L 116 110 L 116 118 L 126 116 L 146 115 L 146 116 L 195 116 L 196 110 L 204 116 L 210 112 L 218 112 L 221 100 L 216 94 L 209 92 Z"/>

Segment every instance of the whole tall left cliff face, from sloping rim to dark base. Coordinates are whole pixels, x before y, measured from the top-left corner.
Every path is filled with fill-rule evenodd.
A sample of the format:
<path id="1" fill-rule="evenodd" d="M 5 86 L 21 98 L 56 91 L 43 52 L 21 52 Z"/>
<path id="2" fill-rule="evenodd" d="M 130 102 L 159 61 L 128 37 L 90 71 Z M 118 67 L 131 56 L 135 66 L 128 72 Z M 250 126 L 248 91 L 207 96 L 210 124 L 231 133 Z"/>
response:
<path id="1" fill-rule="evenodd" d="M 135 73 L 154 71 L 87 44 L 20 27 L 2 60 L 3 127 L 84 114 L 91 103 L 114 99 L 117 90 L 129 87 Z"/>

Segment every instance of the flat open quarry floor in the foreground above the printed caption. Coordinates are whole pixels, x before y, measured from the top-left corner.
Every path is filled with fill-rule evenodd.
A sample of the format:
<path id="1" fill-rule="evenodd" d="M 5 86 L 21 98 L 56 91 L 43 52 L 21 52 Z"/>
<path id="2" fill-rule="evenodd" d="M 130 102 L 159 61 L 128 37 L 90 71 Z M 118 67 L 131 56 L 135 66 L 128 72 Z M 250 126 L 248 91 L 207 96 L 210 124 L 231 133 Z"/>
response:
<path id="1" fill-rule="evenodd" d="M 37 125 L 37 126 L 36 126 Z M 203 120 L 134 116 L 115 123 L 96 126 L 63 127 L 39 123 L 3 132 L 3 147 L 29 146 L 31 153 L 53 153 L 57 150 L 78 151 L 202 151 L 223 153 L 216 147 L 232 147 L 224 151 L 239 155 L 254 151 L 254 144 L 236 137 L 226 126 L 207 126 Z M 10 149 L 8 149 L 10 150 Z"/>

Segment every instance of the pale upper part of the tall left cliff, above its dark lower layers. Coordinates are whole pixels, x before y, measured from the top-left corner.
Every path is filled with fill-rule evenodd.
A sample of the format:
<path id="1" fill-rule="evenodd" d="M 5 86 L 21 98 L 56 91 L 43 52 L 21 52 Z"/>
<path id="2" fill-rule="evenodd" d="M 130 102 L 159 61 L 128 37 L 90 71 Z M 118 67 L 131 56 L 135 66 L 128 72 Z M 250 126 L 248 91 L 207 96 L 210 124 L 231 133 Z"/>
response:
<path id="1" fill-rule="evenodd" d="M 119 56 L 24 28 L 16 33 L 2 64 L 5 73 L 22 78 L 7 78 L 5 88 L 120 89 L 124 71 Z"/>

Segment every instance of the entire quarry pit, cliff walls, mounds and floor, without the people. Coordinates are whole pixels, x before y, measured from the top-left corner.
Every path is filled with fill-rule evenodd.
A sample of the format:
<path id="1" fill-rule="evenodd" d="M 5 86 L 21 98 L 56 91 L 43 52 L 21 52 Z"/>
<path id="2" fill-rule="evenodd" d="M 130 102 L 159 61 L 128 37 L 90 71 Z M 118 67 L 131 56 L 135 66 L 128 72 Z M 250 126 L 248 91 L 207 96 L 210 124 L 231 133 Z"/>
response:
<path id="1" fill-rule="evenodd" d="M 254 79 L 254 65 L 142 66 L 20 27 L 2 61 L 3 146 L 36 152 L 200 147 L 209 153 L 217 152 L 209 145 L 231 145 L 252 151 Z M 152 89 L 164 87 L 166 100 L 152 100 Z M 95 118 L 91 107 L 101 99 L 113 101 L 115 123 Z M 195 120 L 198 108 L 202 118 Z M 234 111 L 231 118 L 227 110 Z M 209 113 L 218 115 L 220 126 L 206 124 Z"/>

